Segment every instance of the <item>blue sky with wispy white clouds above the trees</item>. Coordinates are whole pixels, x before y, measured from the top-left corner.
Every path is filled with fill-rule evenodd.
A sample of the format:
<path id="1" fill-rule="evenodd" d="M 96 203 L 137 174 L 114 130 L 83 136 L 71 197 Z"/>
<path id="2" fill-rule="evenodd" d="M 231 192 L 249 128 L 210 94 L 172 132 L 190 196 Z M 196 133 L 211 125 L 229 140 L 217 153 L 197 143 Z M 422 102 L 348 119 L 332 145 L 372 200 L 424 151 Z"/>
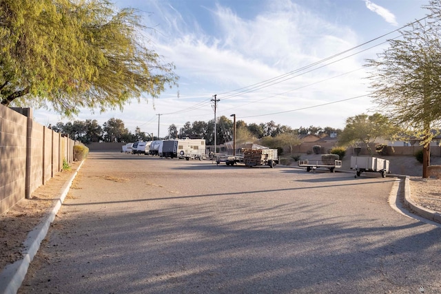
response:
<path id="1" fill-rule="evenodd" d="M 134 132 L 167 134 L 187 121 L 236 114 L 245 123 L 292 128 L 345 127 L 349 116 L 372 113 L 365 59 L 387 48 L 383 34 L 427 14 L 422 0 L 119 0 L 118 8 L 139 10 L 150 48 L 176 65 L 179 87 L 159 98 L 145 96 L 123 112 L 84 109 L 75 120 L 102 125 L 121 118 Z M 345 54 L 340 54 L 350 50 Z M 330 56 L 340 54 L 333 59 Z M 314 65 L 316 64 L 316 65 Z M 313 65 L 313 66 L 311 66 Z M 303 70 L 302 70 L 303 69 Z M 358 97 L 358 98 L 357 98 Z M 321 105 L 321 106 L 320 106 Z M 48 125 L 67 121 L 34 110 Z"/>

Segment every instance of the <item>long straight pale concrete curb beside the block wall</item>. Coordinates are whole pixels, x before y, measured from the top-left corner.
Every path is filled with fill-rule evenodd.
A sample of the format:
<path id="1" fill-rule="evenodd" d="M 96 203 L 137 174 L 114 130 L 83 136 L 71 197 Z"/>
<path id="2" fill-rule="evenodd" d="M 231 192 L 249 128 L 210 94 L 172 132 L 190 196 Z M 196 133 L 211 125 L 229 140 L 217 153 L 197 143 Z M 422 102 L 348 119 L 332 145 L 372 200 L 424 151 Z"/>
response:
<path id="1" fill-rule="evenodd" d="M 28 273 L 30 262 L 34 259 L 37 251 L 40 248 L 41 241 L 45 238 L 48 233 L 50 224 L 54 221 L 55 216 L 63 204 L 63 201 L 68 194 L 70 186 L 78 174 L 79 169 L 83 165 L 84 160 L 81 162 L 79 167 L 76 169 L 72 177 L 68 182 L 61 188 L 60 198 L 55 202 L 54 207 L 50 210 L 45 220 L 35 227 L 32 231 L 28 233 L 25 242 L 23 243 L 25 249 L 23 249 L 23 259 L 17 260 L 13 264 L 8 264 L 3 271 L 0 273 L 0 293 L 1 294 L 15 294 L 19 291 L 21 283 L 25 279 L 26 273 Z"/>

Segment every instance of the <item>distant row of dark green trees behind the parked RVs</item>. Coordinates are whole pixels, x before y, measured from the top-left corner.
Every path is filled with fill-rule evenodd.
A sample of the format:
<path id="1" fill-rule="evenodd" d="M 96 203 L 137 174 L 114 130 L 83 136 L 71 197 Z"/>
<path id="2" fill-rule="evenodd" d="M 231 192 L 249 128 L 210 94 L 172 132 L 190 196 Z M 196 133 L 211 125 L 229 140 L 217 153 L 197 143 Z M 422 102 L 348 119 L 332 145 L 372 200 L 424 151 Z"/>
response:
<path id="1" fill-rule="evenodd" d="M 233 140 L 233 120 L 226 116 L 220 116 L 218 118 L 216 143 L 223 144 Z M 57 125 L 52 126 L 54 131 L 61 134 L 67 134 L 70 138 L 78 140 L 81 143 L 89 144 L 92 142 L 136 142 L 139 140 L 158 140 L 158 139 L 174 139 L 174 138 L 204 138 L 207 145 L 214 145 L 214 120 L 208 122 L 198 120 L 193 123 L 187 121 L 181 128 L 177 128 L 172 124 L 168 127 L 167 136 L 164 138 L 157 138 L 153 134 L 141 132 L 139 127 L 136 127 L 134 133 L 130 132 L 123 123 L 123 120 L 119 118 L 110 118 L 103 125 L 99 125 L 97 120 L 75 120 L 73 123 L 59 122 Z M 278 137 L 287 140 L 289 136 L 298 138 L 298 135 L 316 135 L 316 136 L 328 136 L 330 132 L 337 132 L 340 134 L 341 129 L 335 129 L 332 127 L 299 127 L 298 129 L 292 129 L 287 125 L 280 125 L 274 123 L 273 120 L 268 123 L 250 123 L 247 124 L 243 120 L 236 121 L 236 141 L 238 143 L 245 143 L 254 141 L 256 139 L 262 139 L 266 137 L 266 142 L 269 145 L 274 145 L 274 140 L 271 138 Z M 283 135 L 283 136 L 281 136 Z M 287 136 L 289 135 L 289 136 Z M 274 144 L 272 144 L 272 143 Z M 278 143 L 280 145 L 280 143 Z M 269 146 L 271 147 L 271 146 Z"/>

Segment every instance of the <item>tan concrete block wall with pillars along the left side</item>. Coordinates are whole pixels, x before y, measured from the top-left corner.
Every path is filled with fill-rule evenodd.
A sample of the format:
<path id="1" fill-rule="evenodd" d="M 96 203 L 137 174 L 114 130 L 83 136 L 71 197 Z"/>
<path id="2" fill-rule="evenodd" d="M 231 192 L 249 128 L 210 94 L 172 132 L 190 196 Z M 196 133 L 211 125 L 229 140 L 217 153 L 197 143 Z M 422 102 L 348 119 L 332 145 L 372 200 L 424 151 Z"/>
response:
<path id="1" fill-rule="evenodd" d="M 32 120 L 32 109 L 0 105 L 0 213 L 30 198 L 73 160 L 75 142 Z"/>

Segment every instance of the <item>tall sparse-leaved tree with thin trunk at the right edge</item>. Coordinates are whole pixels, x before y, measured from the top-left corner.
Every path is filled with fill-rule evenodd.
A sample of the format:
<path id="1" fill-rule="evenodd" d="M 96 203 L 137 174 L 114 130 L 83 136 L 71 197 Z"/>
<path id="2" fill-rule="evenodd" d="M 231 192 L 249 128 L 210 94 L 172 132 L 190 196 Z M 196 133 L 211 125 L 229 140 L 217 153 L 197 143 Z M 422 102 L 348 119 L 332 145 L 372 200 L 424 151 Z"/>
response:
<path id="1" fill-rule="evenodd" d="M 422 177 L 427 178 L 432 130 L 441 123 L 441 1 L 431 0 L 424 8 L 431 12 L 427 19 L 389 40 L 389 48 L 367 60 L 367 66 L 374 101 L 394 123 L 421 139 Z"/>

